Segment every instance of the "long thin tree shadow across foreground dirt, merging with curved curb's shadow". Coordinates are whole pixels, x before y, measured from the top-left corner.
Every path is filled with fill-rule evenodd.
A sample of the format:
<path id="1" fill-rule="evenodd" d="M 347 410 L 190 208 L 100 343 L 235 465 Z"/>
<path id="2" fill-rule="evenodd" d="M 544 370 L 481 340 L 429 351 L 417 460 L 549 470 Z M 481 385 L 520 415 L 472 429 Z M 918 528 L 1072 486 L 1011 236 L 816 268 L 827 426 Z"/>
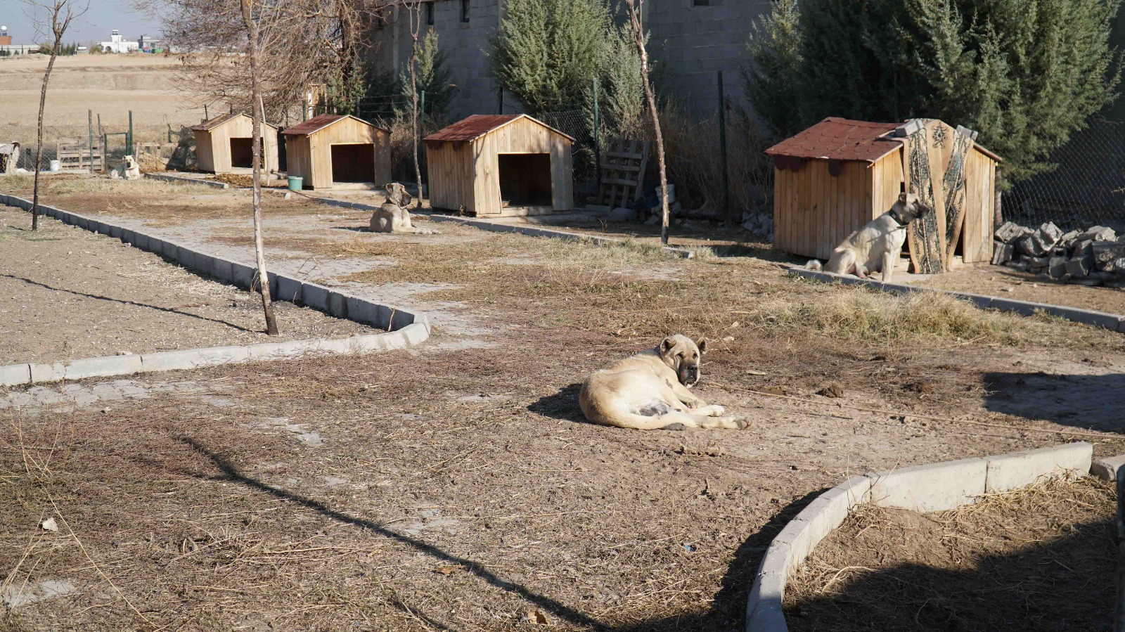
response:
<path id="1" fill-rule="evenodd" d="M 802 508 L 804 508 L 806 505 L 812 502 L 812 499 L 819 496 L 822 491 L 818 490 L 810 493 L 799 500 L 791 503 L 774 515 L 773 518 L 763 525 L 762 529 L 759 529 L 755 534 L 750 535 L 742 542 L 742 544 L 735 552 L 734 559 L 728 565 L 727 571 L 720 584 L 720 589 L 716 594 L 711 607 L 706 613 L 666 616 L 639 624 L 614 625 L 612 623 L 598 621 L 593 614 L 582 612 L 550 596 L 539 594 L 518 583 L 503 579 L 480 562 L 450 553 L 439 547 L 408 534 L 396 532 L 377 522 L 338 511 L 314 498 L 307 498 L 287 489 L 251 478 L 242 473 L 237 466 L 228 459 L 210 450 L 195 439 L 180 436 L 179 441 L 190 446 L 197 454 L 206 458 L 212 466 L 218 470 L 217 475 L 208 476 L 195 473 L 192 476 L 207 478 L 209 480 L 222 480 L 243 485 L 251 489 L 304 506 L 343 524 L 371 531 L 381 536 L 395 540 L 405 547 L 414 549 L 421 554 L 429 556 L 441 562 L 458 565 L 467 572 L 488 583 L 489 585 L 518 595 L 530 605 L 540 608 L 549 617 L 566 622 L 570 626 L 576 626 L 582 630 L 596 630 L 605 632 L 662 632 L 672 630 L 719 632 L 740 628 L 745 614 L 746 598 L 754 580 L 754 574 L 760 562 L 766 547 L 790 520 L 792 520 Z M 441 623 L 439 617 L 435 615 L 420 612 L 417 607 L 412 607 L 403 603 L 396 603 L 394 605 L 404 612 L 408 612 L 412 615 L 425 621 L 434 629 L 456 630 L 456 628 L 452 628 L 450 624 Z"/>

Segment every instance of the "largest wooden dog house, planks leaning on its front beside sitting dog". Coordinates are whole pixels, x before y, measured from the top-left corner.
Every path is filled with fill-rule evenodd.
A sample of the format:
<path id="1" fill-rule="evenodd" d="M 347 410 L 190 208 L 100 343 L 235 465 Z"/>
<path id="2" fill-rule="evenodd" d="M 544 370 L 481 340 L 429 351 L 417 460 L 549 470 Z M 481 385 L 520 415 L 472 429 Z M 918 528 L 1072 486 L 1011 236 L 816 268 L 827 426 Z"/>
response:
<path id="1" fill-rule="evenodd" d="M 975 136 L 936 119 L 826 118 L 774 145 L 774 243 L 828 259 L 907 191 L 935 210 L 908 232 L 916 272 L 990 262 L 1000 157 Z"/>

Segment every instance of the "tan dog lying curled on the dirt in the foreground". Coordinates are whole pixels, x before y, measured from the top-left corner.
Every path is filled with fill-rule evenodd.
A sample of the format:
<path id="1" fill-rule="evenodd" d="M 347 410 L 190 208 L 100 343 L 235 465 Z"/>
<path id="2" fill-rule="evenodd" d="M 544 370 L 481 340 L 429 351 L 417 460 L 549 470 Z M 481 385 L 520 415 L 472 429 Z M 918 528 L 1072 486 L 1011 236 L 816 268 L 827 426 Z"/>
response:
<path id="1" fill-rule="evenodd" d="M 687 390 L 700 380 L 700 356 L 705 351 L 703 338 L 668 336 L 655 349 L 590 376 L 578 405 L 595 424 L 622 428 L 742 430 L 745 422 L 723 417 L 722 406 L 709 406 Z"/>

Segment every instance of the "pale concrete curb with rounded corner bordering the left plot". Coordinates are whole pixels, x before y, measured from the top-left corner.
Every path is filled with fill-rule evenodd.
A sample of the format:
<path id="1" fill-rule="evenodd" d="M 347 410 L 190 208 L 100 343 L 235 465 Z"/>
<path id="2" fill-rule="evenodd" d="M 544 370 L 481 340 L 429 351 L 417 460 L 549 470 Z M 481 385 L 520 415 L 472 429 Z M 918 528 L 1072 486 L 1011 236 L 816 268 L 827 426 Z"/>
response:
<path id="1" fill-rule="evenodd" d="M 27 211 L 32 202 L 16 196 L 0 193 L 0 205 Z M 197 273 L 217 281 L 251 289 L 254 269 L 226 259 L 191 250 L 133 229 L 122 228 L 75 213 L 39 205 L 51 217 L 104 235 L 115 236 L 136 249 L 158 254 Z M 309 354 L 358 354 L 406 349 L 430 337 L 430 319 L 424 314 L 382 305 L 351 296 L 324 286 L 302 281 L 284 274 L 270 273 L 270 291 L 278 300 L 289 300 L 339 318 L 349 318 L 363 325 L 386 329 L 381 334 L 357 335 L 346 338 L 315 338 L 287 342 L 266 342 L 246 346 L 215 346 L 188 349 L 141 355 L 110 355 L 83 358 L 51 364 L 26 363 L 0 367 L 0 387 L 24 386 L 62 380 L 127 376 L 153 371 L 172 371 L 214 367 L 254 360 L 285 360 Z"/>

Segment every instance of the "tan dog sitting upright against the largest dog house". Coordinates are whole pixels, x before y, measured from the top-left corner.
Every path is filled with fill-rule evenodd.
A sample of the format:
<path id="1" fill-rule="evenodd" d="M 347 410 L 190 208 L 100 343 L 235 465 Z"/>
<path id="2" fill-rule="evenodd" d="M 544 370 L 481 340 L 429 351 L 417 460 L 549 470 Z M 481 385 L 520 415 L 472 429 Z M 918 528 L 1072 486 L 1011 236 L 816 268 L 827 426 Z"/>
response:
<path id="1" fill-rule="evenodd" d="M 891 210 L 848 235 L 832 251 L 832 256 L 824 269 L 835 274 L 855 274 L 861 279 L 866 279 L 872 272 L 882 272 L 883 281 L 890 281 L 894 262 L 907 241 L 907 226 L 927 213 L 933 213 L 933 209 L 921 204 L 918 196 L 899 195 L 899 201 L 894 202 Z M 812 260 L 806 268 L 820 270 L 820 262 Z"/>

